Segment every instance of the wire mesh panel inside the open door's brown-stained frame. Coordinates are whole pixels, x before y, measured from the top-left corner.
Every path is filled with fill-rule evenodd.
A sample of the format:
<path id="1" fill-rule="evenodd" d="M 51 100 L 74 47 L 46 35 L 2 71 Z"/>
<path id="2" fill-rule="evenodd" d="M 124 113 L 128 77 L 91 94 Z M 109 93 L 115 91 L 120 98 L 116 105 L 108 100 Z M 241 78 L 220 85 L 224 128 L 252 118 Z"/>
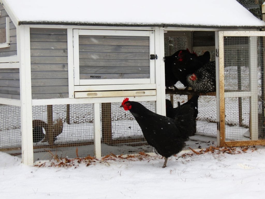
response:
<path id="1" fill-rule="evenodd" d="M 264 139 L 262 37 L 224 38 L 226 141 Z"/>

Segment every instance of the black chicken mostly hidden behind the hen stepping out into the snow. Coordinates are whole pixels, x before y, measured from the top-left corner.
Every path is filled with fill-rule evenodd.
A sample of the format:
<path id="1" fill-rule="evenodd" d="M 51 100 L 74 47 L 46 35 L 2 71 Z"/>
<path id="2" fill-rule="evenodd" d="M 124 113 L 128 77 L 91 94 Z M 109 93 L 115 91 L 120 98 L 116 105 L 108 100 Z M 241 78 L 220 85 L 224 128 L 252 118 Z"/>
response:
<path id="1" fill-rule="evenodd" d="M 198 112 L 198 98 L 199 98 L 198 95 L 194 95 L 194 96 L 192 96 L 191 99 L 189 99 L 187 102 L 185 102 L 181 105 L 182 109 L 184 106 L 191 106 L 194 110 L 193 119 L 195 122 L 195 128 L 194 128 L 192 135 L 195 135 L 196 130 L 197 130 L 196 129 L 196 118 L 197 118 L 198 113 L 199 113 Z M 166 116 L 174 119 L 175 116 L 178 114 L 178 111 L 179 111 L 179 107 L 173 108 L 171 101 L 166 99 Z"/>

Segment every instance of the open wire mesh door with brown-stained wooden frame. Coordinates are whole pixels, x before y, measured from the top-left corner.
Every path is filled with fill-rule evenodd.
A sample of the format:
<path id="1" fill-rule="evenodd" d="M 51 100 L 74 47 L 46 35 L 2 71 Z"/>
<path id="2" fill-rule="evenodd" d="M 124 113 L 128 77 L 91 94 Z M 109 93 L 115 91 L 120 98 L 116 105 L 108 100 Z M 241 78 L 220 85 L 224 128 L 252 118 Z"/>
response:
<path id="1" fill-rule="evenodd" d="M 265 144 L 264 36 L 219 32 L 221 146 Z"/>

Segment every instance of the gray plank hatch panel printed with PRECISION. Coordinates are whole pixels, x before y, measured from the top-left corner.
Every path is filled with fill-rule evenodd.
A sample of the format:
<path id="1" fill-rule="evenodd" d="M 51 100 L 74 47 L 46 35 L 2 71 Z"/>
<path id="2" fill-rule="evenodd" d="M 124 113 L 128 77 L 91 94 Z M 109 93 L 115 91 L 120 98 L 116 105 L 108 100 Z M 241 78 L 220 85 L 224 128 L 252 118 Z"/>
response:
<path id="1" fill-rule="evenodd" d="M 149 78 L 149 37 L 79 36 L 80 79 Z"/>

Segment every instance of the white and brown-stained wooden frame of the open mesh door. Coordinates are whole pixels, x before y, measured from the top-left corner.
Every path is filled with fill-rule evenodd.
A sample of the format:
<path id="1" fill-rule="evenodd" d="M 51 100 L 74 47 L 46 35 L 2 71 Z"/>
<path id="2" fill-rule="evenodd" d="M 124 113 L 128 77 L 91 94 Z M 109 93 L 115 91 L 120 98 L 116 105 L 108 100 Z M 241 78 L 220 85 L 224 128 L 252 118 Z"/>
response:
<path id="1" fill-rule="evenodd" d="M 244 146 L 244 145 L 264 145 L 265 140 L 258 140 L 258 93 L 257 83 L 251 83 L 251 79 L 257 79 L 257 67 L 250 68 L 250 91 L 249 92 L 224 92 L 224 37 L 226 36 L 254 36 L 264 37 L 263 31 L 219 31 L 217 34 L 218 42 L 218 62 L 216 65 L 216 77 L 217 77 L 217 123 L 218 123 L 218 146 Z M 250 42 L 256 42 L 257 40 Z M 250 45 L 251 46 L 251 45 Z M 250 53 L 253 53 L 257 49 L 251 49 Z M 251 58 L 252 57 L 252 58 Z M 257 56 L 256 56 L 257 57 Z M 250 59 L 255 59 L 250 56 Z M 252 60 L 255 62 L 255 60 Z M 247 141 L 226 141 L 225 137 L 225 97 L 250 97 L 250 123 L 249 129 L 252 131 L 251 140 Z M 219 99 L 219 100 L 218 100 Z"/>

